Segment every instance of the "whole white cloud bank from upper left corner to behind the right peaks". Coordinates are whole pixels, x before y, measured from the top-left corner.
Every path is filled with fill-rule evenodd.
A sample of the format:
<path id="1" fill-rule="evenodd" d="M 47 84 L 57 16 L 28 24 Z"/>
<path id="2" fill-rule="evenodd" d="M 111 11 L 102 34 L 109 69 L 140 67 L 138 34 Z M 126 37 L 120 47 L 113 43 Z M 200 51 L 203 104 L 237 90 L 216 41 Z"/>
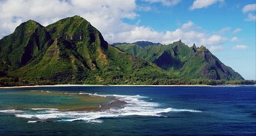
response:
<path id="1" fill-rule="evenodd" d="M 149 1 L 150 2 L 150 1 Z M 179 2 L 154 1 L 151 2 Z M 91 8 L 93 7 L 93 8 Z M 114 42 L 135 42 L 148 40 L 170 44 L 181 39 L 185 44 L 192 46 L 205 45 L 214 50 L 226 41 L 221 35 L 211 35 L 191 20 L 180 25 L 177 29 L 159 32 L 148 26 L 124 23 L 122 19 L 136 19 L 139 16 L 135 0 L 6 0 L 0 1 L 0 38 L 10 34 L 15 27 L 28 19 L 48 25 L 61 18 L 79 15 L 88 20 L 99 29 L 104 39 L 112 44 Z M 217 49 L 215 49 L 217 50 Z M 220 47 L 219 47 L 220 50 Z"/>

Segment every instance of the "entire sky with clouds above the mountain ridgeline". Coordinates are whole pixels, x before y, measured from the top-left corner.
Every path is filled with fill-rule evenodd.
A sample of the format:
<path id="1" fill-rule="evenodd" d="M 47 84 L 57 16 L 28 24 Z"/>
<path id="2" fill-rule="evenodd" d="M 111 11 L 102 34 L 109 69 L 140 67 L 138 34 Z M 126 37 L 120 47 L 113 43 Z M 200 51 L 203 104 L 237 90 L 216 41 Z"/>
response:
<path id="1" fill-rule="evenodd" d="M 79 15 L 109 44 L 181 39 L 255 80 L 255 12 L 255 0 L 0 0 L 0 39 L 29 19 L 47 26 Z"/>

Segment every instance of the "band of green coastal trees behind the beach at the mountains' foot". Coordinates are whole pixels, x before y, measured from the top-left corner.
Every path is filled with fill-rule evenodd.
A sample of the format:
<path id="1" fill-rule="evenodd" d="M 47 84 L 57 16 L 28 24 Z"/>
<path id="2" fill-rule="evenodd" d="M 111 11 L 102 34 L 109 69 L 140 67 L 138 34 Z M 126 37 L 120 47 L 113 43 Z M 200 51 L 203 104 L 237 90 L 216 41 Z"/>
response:
<path id="1" fill-rule="evenodd" d="M 130 82 L 122 79 L 113 80 L 81 80 L 81 81 L 66 81 L 61 82 L 57 80 L 40 80 L 40 79 L 26 79 L 17 77 L 0 77 L 0 87 L 15 87 L 15 86 L 47 86 L 57 84 L 75 84 L 75 86 L 216 86 L 216 85 L 250 85 L 256 84 L 256 80 L 211 80 L 211 79 L 146 79 L 133 80 Z"/>

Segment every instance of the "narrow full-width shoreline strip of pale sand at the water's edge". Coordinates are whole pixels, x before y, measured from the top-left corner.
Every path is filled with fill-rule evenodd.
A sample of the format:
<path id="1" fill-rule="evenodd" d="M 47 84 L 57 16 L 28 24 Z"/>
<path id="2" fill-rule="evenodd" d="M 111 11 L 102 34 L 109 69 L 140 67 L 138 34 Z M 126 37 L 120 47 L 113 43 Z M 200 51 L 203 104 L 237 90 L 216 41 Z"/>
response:
<path id="1" fill-rule="evenodd" d="M 207 85 L 207 84 L 176 84 L 176 85 L 131 85 L 131 84 L 112 84 L 112 85 L 100 85 L 100 84 L 54 84 L 54 85 L 36 85 L 36 86 L 9 86 L 0 87 L 0 89 L 7 88 L 33 88 L 33 87 L 92 87 L 92 86 L 111 86 L 111 87 L 209 87 L 209 86 L 255 86 L 256 84 L 218 84 L 218 85 Z"/>

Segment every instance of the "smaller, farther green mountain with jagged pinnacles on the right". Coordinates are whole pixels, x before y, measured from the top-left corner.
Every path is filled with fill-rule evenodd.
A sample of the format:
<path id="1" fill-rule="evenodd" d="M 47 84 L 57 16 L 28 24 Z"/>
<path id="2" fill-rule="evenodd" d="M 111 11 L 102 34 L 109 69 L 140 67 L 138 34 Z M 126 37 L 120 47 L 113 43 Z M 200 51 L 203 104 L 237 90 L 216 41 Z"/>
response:
<path id="1" fill-rule="evenodd" d="M 195 44 L 188 47 L 181 40 L 169 45 L 118 44 L 117 48 L 153 62 L 179 78 L 237 80 L 244 79 L 231 67 L 224 65 L 207 48 Z"/>

